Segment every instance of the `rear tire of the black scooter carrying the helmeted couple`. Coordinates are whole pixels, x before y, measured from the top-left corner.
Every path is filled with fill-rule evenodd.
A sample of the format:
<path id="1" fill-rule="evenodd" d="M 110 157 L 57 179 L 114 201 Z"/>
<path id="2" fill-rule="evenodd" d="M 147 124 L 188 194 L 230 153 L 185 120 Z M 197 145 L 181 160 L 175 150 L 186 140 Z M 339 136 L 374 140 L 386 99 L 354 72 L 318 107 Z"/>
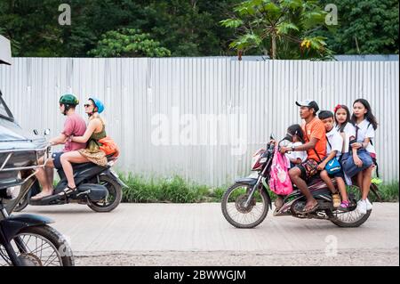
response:
<path id="1" fill-rule="evenodd" d="M 88 199 L 87 206 L 90 207 L 93 211 L 95 212 L 111 212 L 114 210 L 122 200 L 122 186 L 119 183 L 116 183 L 116 181 L 109 177 L 106 174 L 101 174 L 100 175 L 100 184 L 104 185 L 107 187 L 108 190 L 108 196 L 112 196 L 112 201 L 109 202 L 108 204 L 101 204 L 103 201 L 92 201 Z M 93 183 L 98 183 L 96 180 Z M 107 202 L 107 199 L 105 200 Z"/>

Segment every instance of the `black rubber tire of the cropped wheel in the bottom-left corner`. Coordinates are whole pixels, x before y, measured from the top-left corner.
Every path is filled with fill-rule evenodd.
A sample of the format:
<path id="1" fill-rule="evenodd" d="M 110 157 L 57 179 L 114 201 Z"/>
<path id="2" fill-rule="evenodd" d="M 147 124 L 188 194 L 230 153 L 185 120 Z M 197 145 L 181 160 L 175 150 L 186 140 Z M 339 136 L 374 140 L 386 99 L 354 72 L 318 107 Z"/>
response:
<path id="1" fill-rule="evenodd" d="M 21 254 L 18 251 L 17 246 L 15 245 L 16 237 L 20 237 L 20 239 L 22 239 L 24 243 L 26 241 L 25 245 L 28 247 L 28 253 Z M 37 245 L 37 239 L 39 239 L 39 241 L 44 240 L 46 243 L 45 244 L 42 243 L 40 245 L 39 242 L 40 245 L 39 246 Z M 31 242 L 29 242 L 30 240 Z M 20 261 L 22 262 L 22 266 L 74 266 L 75 265 L 74 256 L 72 254 L 72 250 L 69 247 L 67 240 L 60 234 L 59 231 L 55 230 L 54 228 L 48 225 L 26 227 L 22 229 L 18 233 L 18 235 L 14 237 L 12 243 L 13 243 L 12 247 L 14 247 L 17 256 L 19 256 Z M 32 246 L 30 244 L 35 244 L 35 243 L 36 247 L 32 249 Z M 51 251 L 53 251 L 52 255 L 46 256 L 45 254 L 43 254 L 43 251 L 40 251 L 39 253 L 39 249 L 41 247 L 49 248 Z M 0 246 L 0 254 L 4 256 L 4 252 L 5 252 L 4 247 Z M 53 256 L 54 253 L 55 256 Z M 47 259 L 44 259 L 45 257 L 47 257 Z M 54 259 L 57 260 L 57 263 L 55 265 L 53 263 Z M 2 257 L 0 257 L 0 260 L 3 260 Z M 5 263 L 7 262 L 6 260 L 4 261 Z M 47 264 L 48 261 L 52 262 Z"/>

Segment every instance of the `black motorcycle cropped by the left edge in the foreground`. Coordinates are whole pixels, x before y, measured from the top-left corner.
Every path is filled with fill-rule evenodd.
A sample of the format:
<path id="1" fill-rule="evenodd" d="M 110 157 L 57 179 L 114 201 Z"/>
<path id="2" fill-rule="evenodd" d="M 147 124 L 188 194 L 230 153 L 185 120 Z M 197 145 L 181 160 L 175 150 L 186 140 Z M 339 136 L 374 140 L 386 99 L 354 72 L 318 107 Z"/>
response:
<path id="1" fill-rule="evenodd" d="M 4 168 L 3 168 L 4 170 Z M 38 215 L 10 215 L 18 197 L 26 194 L 34 170 L 24 170 L 15 186 L 0 183 L 0 266 L 73 266 L 68 241 L 52 219 Z M 20 194 L 18 194 L 20 191 Z"/>

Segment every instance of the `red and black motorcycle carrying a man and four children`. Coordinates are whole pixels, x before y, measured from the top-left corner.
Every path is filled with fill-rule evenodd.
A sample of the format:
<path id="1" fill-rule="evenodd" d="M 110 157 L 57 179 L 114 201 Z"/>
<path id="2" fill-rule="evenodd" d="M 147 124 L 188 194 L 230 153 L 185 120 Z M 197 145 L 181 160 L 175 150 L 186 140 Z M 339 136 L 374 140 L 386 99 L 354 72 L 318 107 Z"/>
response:
<path id="1" fill-rule="evenodd" d="M 271 134 L 270 140 L 275 140 Z M 284 142 L 282 140 L 278 144 Z M 265 149 L 258 150 L 253 155 L 252 171 L 255 174 L 240 178 L 228 188 L 221 201 L 222 214 L 228 223 L 236 228 L 254 228 L 264 221 L 268 209 L 272 209 L 271 195 L 269 194 L 268 181 L 272 159 L 276 151 L 275 143 L 268 142 Z M 335 179 L 332 183 L 336 185 Z M 315 211 L 304 214 L 306 198 L 293 184 L 291 194 L 284 196 L 283 206 L 276 209 L 274 216 L 292 216 L 301 219 L 328 220 L 339 227 L 358 227 L 371 215 L 372 210 L 361 215 L 356 210 L 356 194 L 359 191 L 356 185 L 349 189 L 348 199 L 350 207 L 347 211 L 337 210 L 332 205 L 332 193 L 318 175 L 308 181 L 308 189 L 318 202 Z M 372 183 L 370 194 L 379 198 L 378 188 Z"/>

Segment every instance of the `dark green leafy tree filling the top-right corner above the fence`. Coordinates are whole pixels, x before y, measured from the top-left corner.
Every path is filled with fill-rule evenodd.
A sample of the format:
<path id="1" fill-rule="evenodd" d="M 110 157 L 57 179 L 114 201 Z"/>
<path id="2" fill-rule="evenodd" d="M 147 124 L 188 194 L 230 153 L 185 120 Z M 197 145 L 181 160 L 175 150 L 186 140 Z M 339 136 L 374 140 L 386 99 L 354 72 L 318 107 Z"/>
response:
<path id="1" fill-rule="evenodd" d="M 398 54 L 397 0 L 323 0 L 338 8 L 335 32 L 321 30 L 327 44 L 340 54 Z"/>

